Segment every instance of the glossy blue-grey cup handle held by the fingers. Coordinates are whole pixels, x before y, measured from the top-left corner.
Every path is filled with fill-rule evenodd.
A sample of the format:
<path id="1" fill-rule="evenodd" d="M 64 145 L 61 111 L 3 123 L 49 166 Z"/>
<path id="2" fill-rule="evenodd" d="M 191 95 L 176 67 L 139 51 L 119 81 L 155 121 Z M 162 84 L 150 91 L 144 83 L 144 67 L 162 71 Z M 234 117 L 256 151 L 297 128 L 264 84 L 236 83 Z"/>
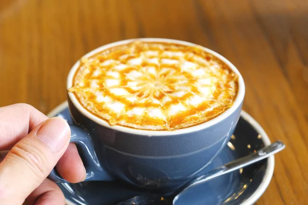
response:
<path id="1" fill-rule="evenodd" d="M 113 178 L 101 166 L 94 151 L 93 141 L 88 131 L 80 126 L 69 125 L 71 130 L 70 142 L 76 144 L 82 151 L 80 153 L 86 168 L 86 179 L 84 181 L 111 181 Z M 59 183 L 68 183 L 53 169 L 48 178 Z"/>

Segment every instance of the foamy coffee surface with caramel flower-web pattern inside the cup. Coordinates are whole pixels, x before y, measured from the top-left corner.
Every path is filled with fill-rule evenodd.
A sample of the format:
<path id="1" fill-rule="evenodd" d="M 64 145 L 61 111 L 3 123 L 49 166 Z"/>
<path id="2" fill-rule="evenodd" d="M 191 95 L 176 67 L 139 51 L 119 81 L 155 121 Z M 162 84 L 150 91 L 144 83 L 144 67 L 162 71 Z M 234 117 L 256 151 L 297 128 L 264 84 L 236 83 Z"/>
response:
<path id="1" fill-rule="evenodd" d="M 82 58 L 69 92 L 111 126 L 177 130 L 232 106 L 238 76 L 201 47 L 135 41 Z"/>

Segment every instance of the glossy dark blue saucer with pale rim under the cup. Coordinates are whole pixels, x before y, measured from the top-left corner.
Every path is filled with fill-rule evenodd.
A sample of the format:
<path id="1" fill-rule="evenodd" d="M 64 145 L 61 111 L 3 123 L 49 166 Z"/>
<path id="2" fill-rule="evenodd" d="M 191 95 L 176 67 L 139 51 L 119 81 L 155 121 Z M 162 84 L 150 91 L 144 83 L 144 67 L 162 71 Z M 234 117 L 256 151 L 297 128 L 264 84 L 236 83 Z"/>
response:
<path id="1" fill-rule="evenodd" d="M 48 116 L 59 116 L 69 123 L 73 123 L 66 102 L 55 108 Z M 234 136 L 228 142 L 228 146 L 202 173 L 269 144 L 270 141 L 260 125 L 250 115 L 242 111 Z M 177 204 L 253 204 L 266 190 L 273 172 L 274 156 L 193 188 L 181 197 Z M 90 181 L 75 184 L 58 183 L 58 185 L 63 191 L 68 205 L 117 204 L 145 192 L 122 181 Z M 168 198 L 166 200 L 166 204 L 172 204 L 172 200 L 168 200 Z"/>

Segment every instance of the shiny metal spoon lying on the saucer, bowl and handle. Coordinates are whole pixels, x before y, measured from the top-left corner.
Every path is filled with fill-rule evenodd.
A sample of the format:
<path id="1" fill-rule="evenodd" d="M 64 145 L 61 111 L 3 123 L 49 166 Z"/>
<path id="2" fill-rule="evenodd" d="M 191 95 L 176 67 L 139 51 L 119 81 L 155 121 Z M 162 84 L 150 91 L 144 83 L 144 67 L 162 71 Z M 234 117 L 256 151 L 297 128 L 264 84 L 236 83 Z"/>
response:
<path id="1" fill-rule="evenodd" d="M 285 145 L 283 144 L 283 142 L 276 141 L 272 143 L 271 145 L 260 149 L 257 152 L 254 152 L 252 154 L 249 154 L 237 160 L 226 163 L 222 167 L 219 167 L 202 176 L 194 178 L 190 180 L 188 183 L 186 183 L 185 185 L 183 185 L 181 188 L 179 188 L 174 194 L 172 194 L 172 196 L 176 195 L 173 199 L 172 204 L 176 204 L 177 200 L 181 196 L 185 195 L 188 189 L 191 189 L 192 187 L 198 186 L 201 183 L 204 183 L 210 179 L 216 178 L 223 174 L 227 174 L 229 172 L 233 172 L 235 170 L 239 170 L 240 168 L 251 165 L 252 163 L 255 163 L 269 156 L 272 156 L 273 154 L 276 154 L 277 152 L 280 152 L 284 148 L 285 148 Z M 165 201 L 165 196 L 162 196 L 162 195 L 143 194 L 143 195 L 134 196 L 130 199 L 122 201 L 118 203 L 117 205 L 150 205 L 150 204 L 151 205 L 152 204 L 167 204 L 167 201 Z"/>

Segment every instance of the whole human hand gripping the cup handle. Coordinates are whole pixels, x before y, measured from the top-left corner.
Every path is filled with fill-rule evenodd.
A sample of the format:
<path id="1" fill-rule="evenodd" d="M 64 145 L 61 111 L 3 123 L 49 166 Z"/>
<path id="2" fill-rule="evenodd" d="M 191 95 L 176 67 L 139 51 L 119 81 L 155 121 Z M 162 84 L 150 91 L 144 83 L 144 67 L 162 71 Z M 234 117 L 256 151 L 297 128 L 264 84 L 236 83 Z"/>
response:
<path id="1" fill-rule="evenodd" d="M 69 182 L 85 179 L 83 162 L 69 140 L 69 126 L 61 118 L 48 119 L 27 104 L 0 108 L 0 203 L 65 204 L 59 187 L 46 177 L 56 166 Z M 10 150 L 5 157 L 4 150 Z"/>

